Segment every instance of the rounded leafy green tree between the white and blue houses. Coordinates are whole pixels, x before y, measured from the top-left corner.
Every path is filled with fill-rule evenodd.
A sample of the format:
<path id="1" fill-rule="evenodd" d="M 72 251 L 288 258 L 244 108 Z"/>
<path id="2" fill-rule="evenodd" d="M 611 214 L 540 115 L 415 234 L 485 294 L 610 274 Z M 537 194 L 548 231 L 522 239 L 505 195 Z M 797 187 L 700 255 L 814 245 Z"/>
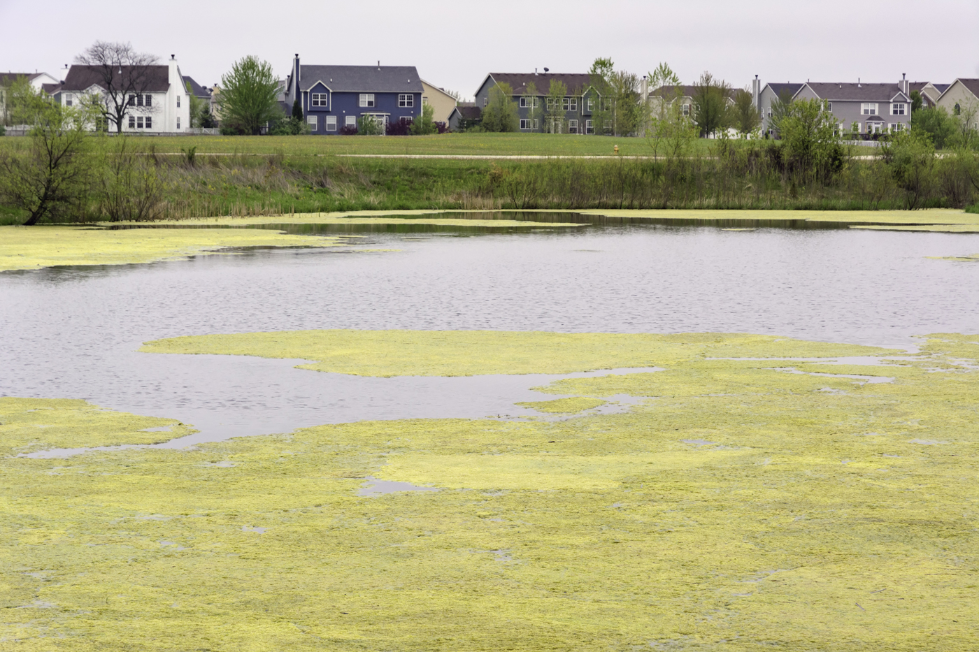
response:
<path id="1" fill-rule="evenodd" d="M 221 76 L 221 120 L 256 135 L 282 115 L 278 94 L 279 80 L 271 64 L 251 55 L 240 59 Z"/>

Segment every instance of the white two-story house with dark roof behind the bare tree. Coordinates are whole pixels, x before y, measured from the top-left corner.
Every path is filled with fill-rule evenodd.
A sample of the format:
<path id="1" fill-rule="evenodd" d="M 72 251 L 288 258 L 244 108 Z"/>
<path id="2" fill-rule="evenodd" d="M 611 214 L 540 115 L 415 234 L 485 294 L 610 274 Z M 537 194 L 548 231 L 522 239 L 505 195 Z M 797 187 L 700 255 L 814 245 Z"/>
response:
<path id="1" fill-rule="evenodd" d="M 121 66 L 108 71 L 72 66 L 55 100 L 66 107 L 97 100 L 105 108 L 105 127 L 110 131 L 117 131 L 117 105 L 123 107 L 122 132 L 182 133 L 190 127 L 190 94 L 173 56 L 165 66 Z"/>

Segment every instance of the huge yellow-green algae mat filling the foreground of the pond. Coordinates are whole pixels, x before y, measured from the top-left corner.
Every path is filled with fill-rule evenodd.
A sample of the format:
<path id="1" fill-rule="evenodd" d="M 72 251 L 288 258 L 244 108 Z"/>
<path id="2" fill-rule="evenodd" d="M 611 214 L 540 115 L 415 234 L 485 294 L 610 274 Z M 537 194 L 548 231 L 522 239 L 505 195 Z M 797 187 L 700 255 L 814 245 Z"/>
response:
<path id="1" fill-rule="evenodd" d="M 0 459 L 3 648 L 975 647 L 979 337 L 862 386 L 673 352 L 550 388 L 647 397 L 626 414 Z"/>

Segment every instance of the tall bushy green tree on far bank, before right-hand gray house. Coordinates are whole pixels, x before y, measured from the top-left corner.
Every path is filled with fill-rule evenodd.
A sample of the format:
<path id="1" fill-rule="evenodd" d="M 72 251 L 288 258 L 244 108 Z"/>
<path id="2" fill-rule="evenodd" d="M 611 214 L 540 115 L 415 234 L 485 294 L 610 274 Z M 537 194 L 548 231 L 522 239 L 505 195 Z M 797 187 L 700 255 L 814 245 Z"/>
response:
<path id="1" fill-rule="evenodd" d="M 827 182 L 840 170 L 844 151 L 836 118 L 819 100 L 793 102 L 780 131 L 785 157 L 802 178 Z"/>

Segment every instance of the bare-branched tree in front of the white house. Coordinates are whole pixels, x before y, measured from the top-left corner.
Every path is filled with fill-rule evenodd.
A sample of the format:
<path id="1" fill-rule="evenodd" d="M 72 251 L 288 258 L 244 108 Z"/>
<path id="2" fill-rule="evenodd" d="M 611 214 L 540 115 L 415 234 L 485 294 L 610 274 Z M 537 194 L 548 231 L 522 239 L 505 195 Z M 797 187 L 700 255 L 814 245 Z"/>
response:
<path id="1" fill-rule="evenodd" d="M 121 133 L 126 116 L 153 113 L 154 107 L 144 106 L 142 98 L 155 81 L 158 59 L 154 55 L 136 52 L 131 43 L 96 41 L 74 61 L 103 88 L 93 104 L 117 132 Z"/>

